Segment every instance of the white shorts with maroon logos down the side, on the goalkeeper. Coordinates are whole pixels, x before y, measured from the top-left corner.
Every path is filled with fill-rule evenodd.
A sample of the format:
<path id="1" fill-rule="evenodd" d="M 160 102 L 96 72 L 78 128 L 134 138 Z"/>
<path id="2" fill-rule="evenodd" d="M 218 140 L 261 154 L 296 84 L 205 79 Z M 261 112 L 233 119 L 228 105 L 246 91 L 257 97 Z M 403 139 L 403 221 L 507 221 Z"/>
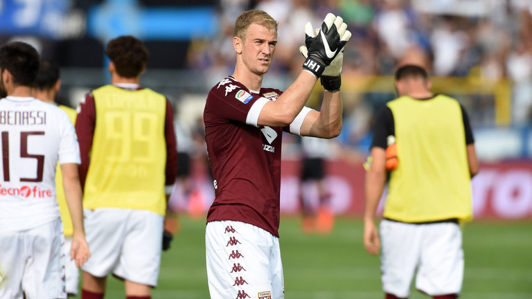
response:
<path id="1" fill-rule="evenodd" d="M 211 299 L 285 298 L 279 239 L 238 221 L 212 221 L 205 233 Z"/>

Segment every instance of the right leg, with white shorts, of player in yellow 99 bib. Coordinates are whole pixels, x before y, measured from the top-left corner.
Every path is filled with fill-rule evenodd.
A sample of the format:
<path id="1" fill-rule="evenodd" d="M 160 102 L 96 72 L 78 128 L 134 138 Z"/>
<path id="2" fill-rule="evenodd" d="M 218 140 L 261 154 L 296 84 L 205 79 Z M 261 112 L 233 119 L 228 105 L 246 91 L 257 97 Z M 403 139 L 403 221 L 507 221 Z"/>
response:
<path id="1" fill-rule="evenodd" d="M 113 274 L 125 281 L 128 298 L 149 298 L 159 277 L 164 217 L 148 210 L 130 210 L 129 214 Z"/>

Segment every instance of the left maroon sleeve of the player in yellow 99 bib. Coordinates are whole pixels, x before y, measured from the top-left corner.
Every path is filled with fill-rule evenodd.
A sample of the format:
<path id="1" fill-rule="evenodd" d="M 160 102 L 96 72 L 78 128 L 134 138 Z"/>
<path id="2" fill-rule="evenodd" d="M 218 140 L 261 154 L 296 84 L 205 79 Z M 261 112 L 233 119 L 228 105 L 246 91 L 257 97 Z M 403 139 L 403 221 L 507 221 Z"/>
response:
<path id="1" fill-rule="evenodd" d="M 81 187 L 85 187 L 85 179 L 89 171 L 90 152 L 92 138 L 94 136 L 94 126 L 96 125 L 96 107 L 94 96 L 87 93 L 85 100 L 80 102 L 78 117 L 76 118 L 76 134 L 80 145 L 81 165 L 79 167 Z"/>

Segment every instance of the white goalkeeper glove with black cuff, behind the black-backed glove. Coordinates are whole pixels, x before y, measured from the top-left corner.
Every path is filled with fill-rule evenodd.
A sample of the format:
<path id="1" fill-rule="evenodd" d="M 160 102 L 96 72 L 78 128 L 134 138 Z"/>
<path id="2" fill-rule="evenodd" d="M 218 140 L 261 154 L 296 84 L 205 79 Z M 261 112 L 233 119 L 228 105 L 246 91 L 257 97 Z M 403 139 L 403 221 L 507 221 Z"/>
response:
<path id="1" fill-rule="evenodd" d="M 329 20 L 332 19 L 330 16 L 334 17 L 334 15 L 328 14 L 326 20 L 323 21 L 324 24 L 326 21 L 328 21 L 328 18 Z M 342 19 L 342 17 L 335 17 L 333 24 L 335 25 L 333 27 L 337 28 L 337 33 L 340 37 L 339 45 L 341 47 L 339 47 L 339 51 L 337 51 L 338 53 L 334 59 L 328 66 L 326 66 L 326 68 L 323 70 L 323 73 L 321 73 L 319 76 L 319 78 L 321 78 L 321 85 L 323 85 L 323 88 L 326 91 L 331 92 L 339 91 L 340 86 L 342 85 L 342 78 L 340 77 L 340 74 L 342 74 L 342 63 L 344 62 L 344 46 L 351 38 L 351 32 L 347 30 L 347 24 L 344 23 L 344 19 Z M 299 47 L 299 52 L 301 52 L 305 58 L 308 59 L 308 48 L 310 48 L 312 42 L 317 39 L 318 35 L 321 35 L 319 28 L 312 29 L 312 24 L 310 24 L 310 22 L 305 24 L 305 46 Z"/>

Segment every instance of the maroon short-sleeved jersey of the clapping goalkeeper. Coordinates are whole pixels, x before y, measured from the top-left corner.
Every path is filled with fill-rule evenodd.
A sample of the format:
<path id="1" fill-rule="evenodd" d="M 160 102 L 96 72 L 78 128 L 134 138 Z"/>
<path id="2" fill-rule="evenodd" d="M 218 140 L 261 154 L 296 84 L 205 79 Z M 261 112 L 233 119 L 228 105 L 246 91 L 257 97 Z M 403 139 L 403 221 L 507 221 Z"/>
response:
<path id="1" fill-rule="evenodd" d="M 207 96 L 205 141 L 215 200 L 207 222 L 242 221 L 278 237 L 283 128 L 257 126 L 260 110 L 278 89 L 250 91 L 232 77 Z"/>

